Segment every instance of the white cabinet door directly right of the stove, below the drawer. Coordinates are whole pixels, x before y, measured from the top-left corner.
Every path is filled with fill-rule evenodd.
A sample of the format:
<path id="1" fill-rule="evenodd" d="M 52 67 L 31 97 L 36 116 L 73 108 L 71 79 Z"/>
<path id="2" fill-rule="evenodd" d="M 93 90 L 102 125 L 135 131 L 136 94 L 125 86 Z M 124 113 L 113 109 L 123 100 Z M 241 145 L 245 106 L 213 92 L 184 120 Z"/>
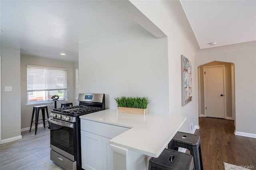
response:
<path id="1" fill-rule="evenodd" d="M 82 168 L 102 170 L 102 136 L 81 130 Z"/>

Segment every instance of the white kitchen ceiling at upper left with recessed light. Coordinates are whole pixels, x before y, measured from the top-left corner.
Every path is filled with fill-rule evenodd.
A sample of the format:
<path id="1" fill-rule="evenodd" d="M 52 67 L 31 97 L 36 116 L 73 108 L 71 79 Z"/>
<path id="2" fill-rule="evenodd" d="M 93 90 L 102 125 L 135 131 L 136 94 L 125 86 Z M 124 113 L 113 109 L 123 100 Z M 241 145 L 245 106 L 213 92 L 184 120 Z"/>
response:
<path id="1" fill-rule="evenodd" d="M 106 0 L 1 0 L 0 14 L 2 45 L 66 61 L 78 61 L 78 42 L 135 24 Z"/>

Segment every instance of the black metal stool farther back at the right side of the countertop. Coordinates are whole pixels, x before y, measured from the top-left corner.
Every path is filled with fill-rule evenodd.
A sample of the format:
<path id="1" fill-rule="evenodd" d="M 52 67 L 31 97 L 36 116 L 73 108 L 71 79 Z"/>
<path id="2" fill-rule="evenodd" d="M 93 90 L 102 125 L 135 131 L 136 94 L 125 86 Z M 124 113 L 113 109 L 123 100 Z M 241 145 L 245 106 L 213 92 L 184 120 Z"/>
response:
<path id="1" fill-rule="evenodd" d="M 177 132 L 168 144 L 168 149 L 178 150 L 179 147 L 190 151 L 190 154 L 194 157 L 196 170 L 204 170 L 199 135 Z"/>

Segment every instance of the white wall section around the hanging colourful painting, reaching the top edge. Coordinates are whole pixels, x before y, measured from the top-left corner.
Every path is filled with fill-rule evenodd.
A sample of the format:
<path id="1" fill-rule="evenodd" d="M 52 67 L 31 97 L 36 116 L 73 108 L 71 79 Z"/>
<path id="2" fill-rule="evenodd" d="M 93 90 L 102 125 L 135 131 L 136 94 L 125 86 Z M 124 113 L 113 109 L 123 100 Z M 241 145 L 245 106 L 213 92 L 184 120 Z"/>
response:
<path id="1" fill-rule="evenodd" d="M 151 20 L 168 38 L 168 77 L 169 77 L 169 114 L 187 118 L 180 131 L 190 132 L 198 125 L 195 113 L 195 75 L 194 53 L 199 50 L 198 43 L 179 0 L 137 1 L 130 0 L 149 20 Z M 192 64 L 192 102 L 182 107 L 181 102 L 181 55 Z"/>

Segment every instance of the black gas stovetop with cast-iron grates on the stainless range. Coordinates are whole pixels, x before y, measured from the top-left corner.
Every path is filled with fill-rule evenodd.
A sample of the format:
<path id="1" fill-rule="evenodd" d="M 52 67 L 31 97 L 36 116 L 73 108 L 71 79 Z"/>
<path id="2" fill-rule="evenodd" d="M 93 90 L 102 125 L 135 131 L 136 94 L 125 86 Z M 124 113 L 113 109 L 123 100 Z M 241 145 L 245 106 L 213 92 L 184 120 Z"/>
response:
<path id="1" fill-rule="evenodd" d="M 100 110 L 102 110 L 102 108 L 99 108 L 99 107 L 70 106 L 70 107 L 53 109 L 52 113 L 75 117 L 75 116 L 85 115 L 88 113 L 93 113 Z"/>

